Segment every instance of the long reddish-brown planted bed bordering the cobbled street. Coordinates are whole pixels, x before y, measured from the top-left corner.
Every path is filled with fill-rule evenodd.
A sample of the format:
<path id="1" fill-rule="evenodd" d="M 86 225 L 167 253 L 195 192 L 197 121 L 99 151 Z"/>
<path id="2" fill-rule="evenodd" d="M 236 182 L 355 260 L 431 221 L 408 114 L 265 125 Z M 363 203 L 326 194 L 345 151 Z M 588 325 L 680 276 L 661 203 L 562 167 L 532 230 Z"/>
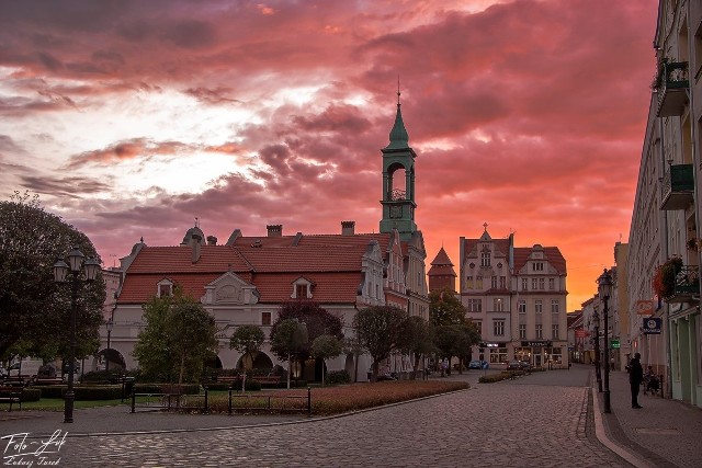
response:
<path id="1" fill-rule="evenodd" d="M 464 390 L 468 387 L 468 384 L 464 381 L 395 380 L 315 388 L 312 390 L 312 412 L 317 415 L 339 414 L 449 391 Z M 306 397 L 307 389 L 267 391 L 264 397 L 259 395 L 260 398 L 251 400 L 250 404 L 258 404 L 258 400 L 260 400 L 261 404 L 264 404 L 264 400 L 268 397 L 281 398 L 286 396 Z M 304 403 L 306 404 L 306 400 Z M 225 413 L 227 408 L 226 396 L 217 396 L 211 399 L 210 410 L 212 412 Z"/>

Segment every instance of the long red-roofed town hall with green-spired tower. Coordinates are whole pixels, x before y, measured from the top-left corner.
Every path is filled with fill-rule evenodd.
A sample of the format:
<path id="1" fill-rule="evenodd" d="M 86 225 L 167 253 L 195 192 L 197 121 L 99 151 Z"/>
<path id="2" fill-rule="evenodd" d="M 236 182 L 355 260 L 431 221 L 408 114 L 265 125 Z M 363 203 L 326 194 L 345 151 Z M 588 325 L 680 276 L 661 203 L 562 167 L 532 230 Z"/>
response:
<path id="1" fill-rule="evenodd" d="M 101 354 L 118 356 L 111 366 L 138 367 L 132 351 L 144 327 L 141 306 L 154 296 L 172 295 L 176 287 L 215 317 L 220 330 L 217 365 L 224 368 L 238 367 L 242 357 L 229 350 L 233 331 L 256 324 L 269 335 L 280 306 L 291 300 L 318 303 L 343 320 L 349 338 L 355 312 L 369 306 L 393 305 L 428 319 L 426 251 L 415 222 L 417 155 L 409 147 L 399 102 L 389 145 L 382 152 L 378 233 L 355 233 L 354 221 L 342 221 L 341 231 L 333 235 L 284 235 L 282 225 L 269 225 L 265 236 L 245 236 L 235 229 L 225 243 L 217 243 L 196 225 L 180 246 L 136 243 L 121 259 L 122 284 L 111 340 L 115 352 Z M 254 366 L 275 364 L 280 363 L 267 341 Z M 365 379 L 370 364 L 370 356 L 362 355 L 356 366 L 353 354 L 327 363 L 329 369 L 346 368 L 352 376 L 359 368 L 360 379 Z M 386 363 L 386 369 L 401 372 L 410 364 L 399 356 Z"/>

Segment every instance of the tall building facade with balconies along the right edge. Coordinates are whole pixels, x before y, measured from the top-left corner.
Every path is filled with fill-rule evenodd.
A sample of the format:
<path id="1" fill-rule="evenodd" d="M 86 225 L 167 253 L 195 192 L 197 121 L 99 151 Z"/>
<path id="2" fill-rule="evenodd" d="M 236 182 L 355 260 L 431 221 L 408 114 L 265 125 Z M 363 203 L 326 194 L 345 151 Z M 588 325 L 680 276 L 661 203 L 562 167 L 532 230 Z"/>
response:
<path id="1" fill-rule="evenodd" d="M 700 265 L 700 249 L 690 248 L 689 242 L 699 243 L 701 237 L 702 3 L 661 1 L 654 47 L 659 64 L 664 59 L 688 64 L 687 76 L 678 71 L 673 79 L 678 83 L 687 79 L 689 89 L 658 85 L 652 95 L 626 260 L 631 352 L 639 352 L 645 365 L 664 374 L 668 396 L 702 407 L 699 289 L 697 297 L 678 295 L 663 300 L 652 287 L 656 267 L 672 256 L 681 258 L 686 266 Z M 665 110 L 659 103 L 670 104 L 676 99 L 670 112 L 659 112 Z M 679 206 L 661 206 L 669 199 L 666 173 L 680 164 L 692 164 L 692 197 Z M 646 316 L 633 307 L 638 300 L 652 299 L 653 317 L 663 320 L 660 335 L 644 334 Z"/>

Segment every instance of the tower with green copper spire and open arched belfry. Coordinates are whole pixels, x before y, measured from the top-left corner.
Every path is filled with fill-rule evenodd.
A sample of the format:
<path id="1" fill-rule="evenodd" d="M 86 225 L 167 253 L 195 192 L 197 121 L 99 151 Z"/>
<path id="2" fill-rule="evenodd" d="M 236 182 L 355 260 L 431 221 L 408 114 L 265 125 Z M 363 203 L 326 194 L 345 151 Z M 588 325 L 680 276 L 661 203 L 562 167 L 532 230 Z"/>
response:
<path id="1" fill-rule="evenodd" d="M 381 232 L 397 229 L 400 239 L 408 241 L 417 231 L 415 222 L 415 158 L 409 147 L 397 89 L 397 115 L 390 130 L 390 142 L 383 148 L 383 219 Z"/>

